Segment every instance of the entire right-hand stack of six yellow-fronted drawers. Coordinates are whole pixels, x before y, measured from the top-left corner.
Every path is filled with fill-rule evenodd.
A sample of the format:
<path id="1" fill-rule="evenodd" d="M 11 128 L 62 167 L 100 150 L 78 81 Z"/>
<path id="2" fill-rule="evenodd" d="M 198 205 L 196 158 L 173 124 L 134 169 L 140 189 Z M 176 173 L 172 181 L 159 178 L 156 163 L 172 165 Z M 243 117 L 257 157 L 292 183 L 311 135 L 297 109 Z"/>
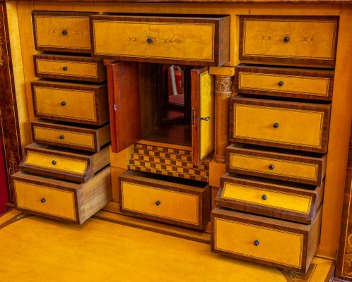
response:
<path id="1" fill-rule="evenodd" d="M 338 23 L 240 17 L 241 62 L 272 66 L 236 68 L 234 143 L 211 215 L 213 252 L 296 271 L 310 266 L 319 244 Z"/>

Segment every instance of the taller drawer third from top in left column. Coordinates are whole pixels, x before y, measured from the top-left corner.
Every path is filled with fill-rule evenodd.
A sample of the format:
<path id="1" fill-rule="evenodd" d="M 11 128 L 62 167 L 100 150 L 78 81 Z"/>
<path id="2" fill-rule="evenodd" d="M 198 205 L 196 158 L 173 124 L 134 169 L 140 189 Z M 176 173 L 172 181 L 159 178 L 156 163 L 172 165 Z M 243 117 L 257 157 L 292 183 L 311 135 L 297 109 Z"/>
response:
<path id="1" fill-rule="evenodd" d="M 107 85 L 37 80 L 32 82 L 35 116 L 102 125 L 109 121 Z"/>

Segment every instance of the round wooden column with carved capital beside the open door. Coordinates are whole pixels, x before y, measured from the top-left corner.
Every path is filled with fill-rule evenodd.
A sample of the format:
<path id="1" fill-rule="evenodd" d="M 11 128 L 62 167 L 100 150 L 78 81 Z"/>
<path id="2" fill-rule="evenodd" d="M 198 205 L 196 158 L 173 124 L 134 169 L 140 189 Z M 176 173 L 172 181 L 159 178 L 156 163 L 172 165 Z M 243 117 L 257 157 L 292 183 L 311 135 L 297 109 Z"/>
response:
<path id="1" fill-rule="evenodd" d="M 228 147 L 229 100 L 233 93 L 233 76 L 215 77 L 215 154 L 214 161 L 224 164 Z"/>

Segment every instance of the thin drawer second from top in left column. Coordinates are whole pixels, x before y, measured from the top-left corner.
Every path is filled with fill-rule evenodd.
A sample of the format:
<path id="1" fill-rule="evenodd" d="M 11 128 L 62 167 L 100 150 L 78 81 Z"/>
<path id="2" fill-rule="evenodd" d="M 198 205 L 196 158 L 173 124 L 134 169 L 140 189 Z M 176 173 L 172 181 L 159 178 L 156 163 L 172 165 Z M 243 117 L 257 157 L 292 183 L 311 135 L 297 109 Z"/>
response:
<path id="1" fill-rule="evenodd" d="M 91 82 L 106 80 L 106 68 L 102 59 L 52 54 L 37 54 L 33 58 L 35 76 L 39 78 Z"/>

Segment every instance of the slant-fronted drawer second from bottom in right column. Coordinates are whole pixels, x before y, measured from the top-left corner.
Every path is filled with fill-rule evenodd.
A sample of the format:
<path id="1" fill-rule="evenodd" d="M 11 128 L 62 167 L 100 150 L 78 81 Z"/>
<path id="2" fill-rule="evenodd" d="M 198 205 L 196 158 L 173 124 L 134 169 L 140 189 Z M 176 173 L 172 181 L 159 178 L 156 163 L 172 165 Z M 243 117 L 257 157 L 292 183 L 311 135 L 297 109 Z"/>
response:
<path id="1" fill-rule="evenodd" d="M 293 185 L 225 173 L 215 202 L 218 207 L 307 224 L 315 219 L 323 191 L 324 183 Z"/>

